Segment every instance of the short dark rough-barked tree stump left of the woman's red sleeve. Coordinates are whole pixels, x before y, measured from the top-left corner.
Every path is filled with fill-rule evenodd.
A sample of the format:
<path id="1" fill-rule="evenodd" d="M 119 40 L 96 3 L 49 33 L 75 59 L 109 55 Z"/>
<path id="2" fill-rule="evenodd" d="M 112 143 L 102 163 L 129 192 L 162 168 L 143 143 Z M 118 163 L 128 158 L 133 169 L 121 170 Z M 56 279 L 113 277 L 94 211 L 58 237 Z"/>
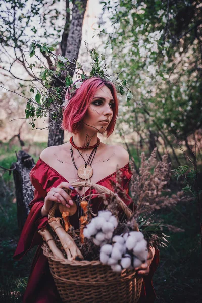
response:
<path id="1" fill-rule="evenodd" d="M 29 173 L 34 167 L 34 159 L 25 151 L 20 150 L 17 155 L 17 162 L 13 163 L 11 168 L 13 170 L 13 178 L 16 191 L 16 203 L 17 203 L 17 219 L 18 227 L 22 230 L 24 223 L 29 214 L 29 203 L 33 200 L 34 187 L 31 184 Z"/>

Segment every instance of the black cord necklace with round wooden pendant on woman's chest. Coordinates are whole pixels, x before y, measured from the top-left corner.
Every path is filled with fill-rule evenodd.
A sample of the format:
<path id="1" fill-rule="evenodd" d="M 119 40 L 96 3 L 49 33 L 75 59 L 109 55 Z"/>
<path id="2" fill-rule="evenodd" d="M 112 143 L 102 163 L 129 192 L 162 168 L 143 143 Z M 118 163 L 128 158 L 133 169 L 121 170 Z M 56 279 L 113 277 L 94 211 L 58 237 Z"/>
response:
<path id="1" fill-rule="evenodd" d="M 79 152 L 79 154 L 81 155 L 81 157 L 83 158 L 83 160 L 85 162 L 85 164 L 82 164 L 79 168 L 77 168 L 77 166 L 76 166 L 76 163 L 75 163 L 75 160 L 74 160 L 74 155 L 73 155 L 73 150 L 72 150 L 72 147 L 71 147 L 70 152 L 71 152 L 72 162 L 74 164 L 74 167 L 77 170 L 77 175 L 79 176 L 79 178 L 85 180 L 85 179 L 89 179 L 90 177 L 92 177 L 93 169 L 91 167 L 91 164 L 92 164 L 92 161 L 94 160 L 94 157 L 95 157 L 95 154 L 96 154 L 96 151 L 97 151 L 97 147 L 98 146 L 96 146 L 95 148 L 93 148 L 93 150 L 91 151 L 90 156 L 89 156 L 87 162 L 83 158 L 83 156 L 80 153 L 80 151 L 77 149 L 78 152 Z"/>

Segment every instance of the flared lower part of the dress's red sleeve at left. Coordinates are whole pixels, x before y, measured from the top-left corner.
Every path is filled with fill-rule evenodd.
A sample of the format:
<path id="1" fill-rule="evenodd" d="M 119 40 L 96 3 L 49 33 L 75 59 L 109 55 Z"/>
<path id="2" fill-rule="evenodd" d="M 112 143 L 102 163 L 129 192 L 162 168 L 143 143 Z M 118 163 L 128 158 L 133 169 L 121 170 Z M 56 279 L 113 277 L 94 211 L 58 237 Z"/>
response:
<path id="1" fill-rule="evenodd" d="M 26 252 L 35 245 L 43 243 L 41 235 L 38 230 L 47 225 L 48 218 L 41 216 L 41 208 L 44 205 L 44 198 L 35 189 L 34 199 L 31 201 L 29 207 L 30 213 L 27 217 L 23 227 L 15 254 L 14 259 L 21 259 Z"/>

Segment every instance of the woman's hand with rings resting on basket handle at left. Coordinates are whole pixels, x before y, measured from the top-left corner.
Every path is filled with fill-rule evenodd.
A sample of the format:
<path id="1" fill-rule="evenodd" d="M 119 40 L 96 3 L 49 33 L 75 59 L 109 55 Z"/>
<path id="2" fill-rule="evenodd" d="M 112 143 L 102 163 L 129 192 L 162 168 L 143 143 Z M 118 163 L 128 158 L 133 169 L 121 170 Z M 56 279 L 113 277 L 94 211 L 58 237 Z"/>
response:
<path id="1" fill-rule="evenodd" d="M 44 206 L 41 209 L 42 216 L 48 215 L 49 210 L 53 205 L 53 202 L 62 203 L 68 208 L 70 208 L 70 206 L 73 205 L 73 201 L 71 197 L 67 194 L 67 192 L 63 188 L 66 188 L 68 190 L 74 189 L 74 187 L 72 187 L 71 184 L 68 182 L 62 182 L 57 187 L 52 187 L 45 197 Z"/>

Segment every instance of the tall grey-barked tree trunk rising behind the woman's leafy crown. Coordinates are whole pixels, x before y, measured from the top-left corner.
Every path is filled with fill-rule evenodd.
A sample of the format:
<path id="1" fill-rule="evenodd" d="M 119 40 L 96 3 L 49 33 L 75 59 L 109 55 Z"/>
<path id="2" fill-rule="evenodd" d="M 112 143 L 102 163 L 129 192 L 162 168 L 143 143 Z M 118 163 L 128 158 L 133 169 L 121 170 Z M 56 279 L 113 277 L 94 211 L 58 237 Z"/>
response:
<path id="1" fill-rule="evenodd" d="M 70 14 L 69 14 L 69 1 L 66 0 L 66 23 L 61 40 L 61 49 L 62 54 L 65 54 L 65 57 L 68 58 L 71 62 L 75 64 L 70 64 L 69 74 L 71 77 L 74 75 L 74 70 L 76 66 L 76 61 L 79 54 L 79 49 L 81 45 L 82 37 L 82 25 L 83 18 L 85 14 L 85 9 L 87 5 L 87 0 L 77 0 L 73 1 L 72 8 L 72 20 L 69 24 Z M 68 33 L 69 30 L 69 33 Z M 48 146 L 61 145 L 64 140 L 64 130 L 60 128 L 60 125 L 57 126 L 54 124 L 49 129 L 48 134 Z"/>

